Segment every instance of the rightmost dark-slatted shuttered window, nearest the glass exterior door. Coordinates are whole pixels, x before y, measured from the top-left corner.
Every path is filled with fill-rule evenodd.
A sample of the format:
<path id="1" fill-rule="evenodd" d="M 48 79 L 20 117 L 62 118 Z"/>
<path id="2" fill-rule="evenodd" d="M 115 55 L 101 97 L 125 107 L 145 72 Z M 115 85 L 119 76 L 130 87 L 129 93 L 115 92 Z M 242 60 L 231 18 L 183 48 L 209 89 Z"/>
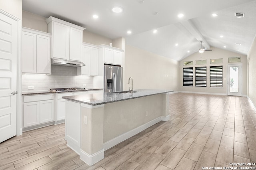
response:
<path id="1" fill-rule="evenodd" d="M 210 87 L 222 87 L 222 65 L 210 67 Z"/>

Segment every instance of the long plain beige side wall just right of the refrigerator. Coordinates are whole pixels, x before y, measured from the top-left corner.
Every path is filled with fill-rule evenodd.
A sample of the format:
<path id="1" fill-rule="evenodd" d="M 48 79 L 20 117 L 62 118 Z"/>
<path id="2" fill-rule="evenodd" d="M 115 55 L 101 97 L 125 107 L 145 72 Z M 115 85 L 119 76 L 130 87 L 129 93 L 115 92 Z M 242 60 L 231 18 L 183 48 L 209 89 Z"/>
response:
<path id="1" fill-rule="evenodd" d="M 125 45 L 124 90 L 133 78 L 134 89 L 167 89 L 178 91 L 178 61 Z"/>

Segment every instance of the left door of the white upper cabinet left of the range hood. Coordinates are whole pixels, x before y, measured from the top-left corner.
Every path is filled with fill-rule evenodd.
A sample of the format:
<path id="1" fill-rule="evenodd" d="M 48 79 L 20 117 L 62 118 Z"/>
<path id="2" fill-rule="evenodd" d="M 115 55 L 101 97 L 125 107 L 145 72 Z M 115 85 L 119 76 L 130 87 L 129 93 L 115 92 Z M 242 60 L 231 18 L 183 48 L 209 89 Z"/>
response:
<path id="1" fill-rule="evenodd" d="M 36 34 L 21 34 L 21 69 L 22 73 L 36 73 Z"/>

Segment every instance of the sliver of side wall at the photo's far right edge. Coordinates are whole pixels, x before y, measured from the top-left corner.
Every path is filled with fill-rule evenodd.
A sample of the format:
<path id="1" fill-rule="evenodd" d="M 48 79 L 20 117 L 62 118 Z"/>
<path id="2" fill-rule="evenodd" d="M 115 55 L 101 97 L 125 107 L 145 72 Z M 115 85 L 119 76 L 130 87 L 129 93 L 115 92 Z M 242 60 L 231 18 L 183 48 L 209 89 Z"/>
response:
<path id="1" fill-rule="evenodd" d="M 248 53 L 248 97 L 256 106 L 256 38 L 252 43 L 252 47 Z"/>

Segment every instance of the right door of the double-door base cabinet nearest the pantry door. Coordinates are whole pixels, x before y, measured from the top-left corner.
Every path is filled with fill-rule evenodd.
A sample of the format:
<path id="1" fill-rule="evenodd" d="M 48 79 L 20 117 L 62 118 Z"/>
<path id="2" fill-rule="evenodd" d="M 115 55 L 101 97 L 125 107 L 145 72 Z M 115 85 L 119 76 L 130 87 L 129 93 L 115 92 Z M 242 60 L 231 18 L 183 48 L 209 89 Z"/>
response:
<path id="1" fill-rule="evenodd" d="M 40 123 L 54 121 L 54 100 L 40 101 Z"/>

